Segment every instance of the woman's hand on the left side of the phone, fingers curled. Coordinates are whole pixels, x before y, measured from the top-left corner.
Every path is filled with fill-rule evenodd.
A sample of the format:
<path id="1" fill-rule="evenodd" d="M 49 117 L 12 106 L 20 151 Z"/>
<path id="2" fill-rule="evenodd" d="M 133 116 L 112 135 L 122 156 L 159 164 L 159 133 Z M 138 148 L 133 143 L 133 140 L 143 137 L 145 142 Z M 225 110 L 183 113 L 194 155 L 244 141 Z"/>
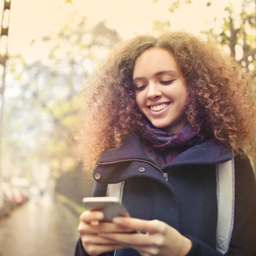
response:
<path id="1" fill-rule="evenodd" d="M 112 222 L 100 222 L 104 216 L 100 211 L 84 211 L 77 228 L 81 234 L 84 250 L 91 256 L 125 248 L 125 245 L 98 236 L 99 233 L 127 233 L 133 230 L 120 227 Z"/>

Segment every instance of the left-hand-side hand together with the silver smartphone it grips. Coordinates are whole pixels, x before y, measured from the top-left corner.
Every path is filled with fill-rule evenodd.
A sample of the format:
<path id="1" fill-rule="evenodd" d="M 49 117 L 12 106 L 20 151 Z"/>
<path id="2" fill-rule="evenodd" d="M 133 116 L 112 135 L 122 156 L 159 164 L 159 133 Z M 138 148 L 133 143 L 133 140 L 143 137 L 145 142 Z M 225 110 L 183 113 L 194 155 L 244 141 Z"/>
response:
<path id="1" fill-rule="evenodd" d="M 80 216 L 78 232 L 81 234 L 81 242 L 88 255 L 99 255 L 100 253 L 125 248 L 122 244 L 99 236 L 102 233 L 120 234 L 133 231 L 109 222 L 116 216 L 129 216 L 119 200 L 110 197 L 94 197 L 84 198 L 83 201 L 88 211 L 84 211 Z M 115 206 L 113 207 L 113 205 Z M 93 225 L 93 223 L 98 223 L 98 225 Z"/>

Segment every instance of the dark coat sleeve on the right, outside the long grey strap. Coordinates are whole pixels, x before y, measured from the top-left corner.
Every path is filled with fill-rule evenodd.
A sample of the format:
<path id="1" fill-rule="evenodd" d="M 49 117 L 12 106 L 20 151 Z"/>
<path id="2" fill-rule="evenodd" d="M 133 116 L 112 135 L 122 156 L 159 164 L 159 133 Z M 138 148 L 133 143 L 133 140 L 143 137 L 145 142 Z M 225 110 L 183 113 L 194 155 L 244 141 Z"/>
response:
<path id="1" fill-rule="evenodd" d="M 219 256 L 220 252 L 187 236 L 193 246 L 186 256 Z M 248 157 L 235 157 L 234 228 L 227 256 L 256 255 L 256 182 Z"/>

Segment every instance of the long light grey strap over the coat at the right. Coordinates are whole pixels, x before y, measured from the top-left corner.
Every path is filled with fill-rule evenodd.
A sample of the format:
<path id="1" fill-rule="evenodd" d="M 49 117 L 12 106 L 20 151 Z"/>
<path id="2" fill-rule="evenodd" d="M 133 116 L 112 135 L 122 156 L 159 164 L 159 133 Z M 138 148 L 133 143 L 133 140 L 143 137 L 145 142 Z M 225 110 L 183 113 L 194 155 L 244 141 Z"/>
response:
<path id="1" fill-rule="evenodd" d="M 216 250 L 227 253 L 234 225 L 235 168 L 234 157 L 225 163 L 216 164 L 218 223 Z"/>

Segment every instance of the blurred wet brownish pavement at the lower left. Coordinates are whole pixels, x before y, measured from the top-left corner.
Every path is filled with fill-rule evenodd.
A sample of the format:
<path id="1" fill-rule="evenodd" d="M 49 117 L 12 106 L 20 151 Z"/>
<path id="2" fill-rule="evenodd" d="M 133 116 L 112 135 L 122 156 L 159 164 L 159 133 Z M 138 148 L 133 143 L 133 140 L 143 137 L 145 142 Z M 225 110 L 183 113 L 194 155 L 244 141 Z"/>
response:
<path id="1" fill-rule="evenodd" d="M 78 218 L 49 194 L 0 220 L 0 256 L 70 256 Z"/>

